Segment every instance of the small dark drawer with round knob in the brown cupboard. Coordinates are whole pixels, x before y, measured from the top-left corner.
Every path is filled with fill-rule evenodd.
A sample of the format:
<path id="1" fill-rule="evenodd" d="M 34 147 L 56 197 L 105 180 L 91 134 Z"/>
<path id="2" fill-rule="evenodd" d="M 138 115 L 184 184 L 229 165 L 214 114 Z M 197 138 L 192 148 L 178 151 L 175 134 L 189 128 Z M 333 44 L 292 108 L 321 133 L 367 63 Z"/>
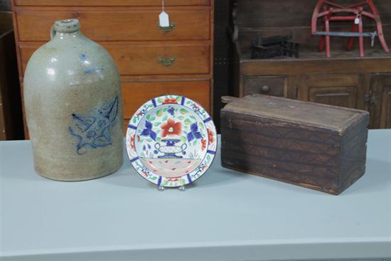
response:
<path id="1" fill-rule="evenodd" d="M 243 96 L 257 93 L 284 97 L 287 91 L 287 79 L 284 76 L 247 76 L 244 79 L 243 85 Z"/>

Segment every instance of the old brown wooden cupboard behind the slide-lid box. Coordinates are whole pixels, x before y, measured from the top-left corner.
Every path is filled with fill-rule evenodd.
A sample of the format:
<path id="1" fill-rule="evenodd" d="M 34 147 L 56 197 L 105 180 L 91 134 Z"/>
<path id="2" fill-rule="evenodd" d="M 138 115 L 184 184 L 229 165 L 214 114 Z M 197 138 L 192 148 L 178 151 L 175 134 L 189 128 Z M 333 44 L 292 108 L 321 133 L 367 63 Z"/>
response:
<path id="1" fill-rule="evenodd" d="M 300 4 L 298 4 L 298 2 Z M 370 128 L 391 126 L 391 53 L 385 53 L 375 38 L 365 38 L 365 57 L 358 53 L 358 38 L 353 50 L 346 50 L 348 38 L 331 37 L 331 58 L 318 51 L 320 36 L 311 35 L 311 17 L 316 0 L 237 0 L 233 41 L 233 94 L 252 93 L 287 97 L 294 100 L 350 107 L 370 112 Z M 359 0 L 333 0 L 348 5 Z M 382 18 L 385 40 L 391 47 L 391 1 L 375 0 Z M 365 7 L 366 8 L 366 7 Z M 322 30 L 320 19 L 318 30 Z M 365 19 L 365 32 L 377 31 Z M 333 31 L 351 31 L 350 22 L 331 23 Z M 251 42 L 278 35 L 291 35 L 300 43 L 299 58 L 251 59 Z"/>

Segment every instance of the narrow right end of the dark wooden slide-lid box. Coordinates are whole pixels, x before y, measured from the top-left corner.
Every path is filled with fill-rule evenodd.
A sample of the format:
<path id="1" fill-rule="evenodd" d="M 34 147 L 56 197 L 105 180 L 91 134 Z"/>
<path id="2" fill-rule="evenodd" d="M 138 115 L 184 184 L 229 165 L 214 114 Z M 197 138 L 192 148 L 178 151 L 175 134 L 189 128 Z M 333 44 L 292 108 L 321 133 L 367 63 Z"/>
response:
<path id="1" fill-rule="evenodd" d="M 369 115 L 363 114 L 342 137 L 339 191 L 342 193 L 365 174 Z"/>

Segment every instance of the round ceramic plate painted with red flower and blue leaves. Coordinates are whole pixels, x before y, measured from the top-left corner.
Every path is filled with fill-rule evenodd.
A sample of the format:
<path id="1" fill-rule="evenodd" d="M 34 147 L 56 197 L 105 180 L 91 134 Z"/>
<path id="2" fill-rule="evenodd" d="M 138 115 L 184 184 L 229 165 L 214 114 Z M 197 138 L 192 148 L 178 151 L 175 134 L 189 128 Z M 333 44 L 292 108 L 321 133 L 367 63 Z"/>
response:
<path id="1" fill-rule="evenodd" d="M 129 121 L 129 159 L 141 176 L 158 186 L 183 186 L 200 178 L 216 149 L 213 120 L 197 102 L 183 96 L 156 97 Z"/>

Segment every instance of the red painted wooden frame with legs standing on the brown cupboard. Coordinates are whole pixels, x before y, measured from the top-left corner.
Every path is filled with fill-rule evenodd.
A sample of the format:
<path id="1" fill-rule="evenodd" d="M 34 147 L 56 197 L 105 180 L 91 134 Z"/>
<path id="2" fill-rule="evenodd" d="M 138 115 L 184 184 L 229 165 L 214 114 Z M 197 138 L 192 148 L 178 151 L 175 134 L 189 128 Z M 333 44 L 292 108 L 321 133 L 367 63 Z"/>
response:
<path id="1" fill-rule="evenodd" d="M 364 6 L 368 6 L 369 11 L 365 11 Z M 348 15 L 338 15 L 341 13 Z M 365 33 L 363 31 L 363 16 L 375 21 L 377 31 L 369 33 Z M 324 19 L 323 31 L 316 30 L 316 24 L 319 18 Z M 353 21 L 353 30 L 351 32 L 330 31 L 331 21 Z M 326 46 L 326 57 L 328 58 L 331 56 L 330 36 L 349 37 L 347 46 L 348 50 L 351 50 L 353 46 L 353 37 L 358 37 L 360 57 L 364 56 L 364 37 L 370 37 L 373 45 L 375 37 L 377 36 L 385 53 L 390 52 L 390 49 L 387 47 L 387 43 L 385 43 L 380 14 L 375 4 L 373 4 L 373 0 L 364 0 L 358 4 L 350 6 L 342 6 L 341 4 L 336 4 L 328 0 L 318 0 L 318 4 L 316 4 L 316 8 L 312 16 L 311 30 L 312 34 L 321 36 L 319 51 L 323 51 Z"/>

